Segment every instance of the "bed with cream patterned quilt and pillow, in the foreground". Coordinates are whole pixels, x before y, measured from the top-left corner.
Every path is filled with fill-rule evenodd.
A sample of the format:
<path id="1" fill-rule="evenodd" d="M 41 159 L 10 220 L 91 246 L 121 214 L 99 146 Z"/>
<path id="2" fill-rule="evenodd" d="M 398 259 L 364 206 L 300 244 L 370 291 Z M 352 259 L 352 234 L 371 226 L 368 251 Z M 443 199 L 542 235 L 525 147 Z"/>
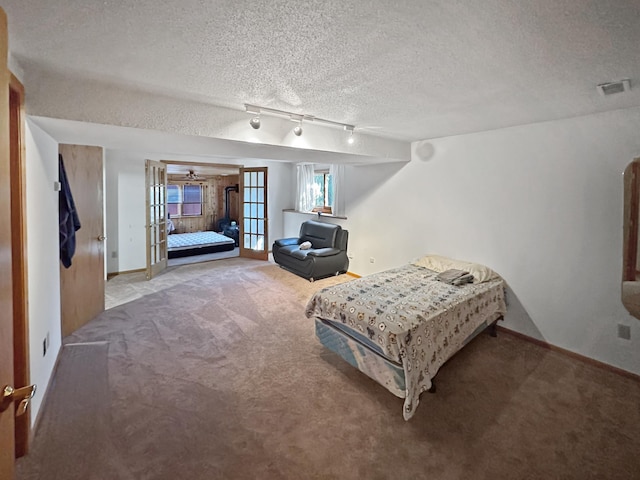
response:
<path id="1" fill-rule="evenodd" d="M 454 270 L 471 283 L 442 281 Z M 305 313 L 322 345 L 405 399 L 409 420 L 440 367 L 488 326 L 495 334 L 504 287 L 484 265 L 426 255 L 319 290 Z"/>

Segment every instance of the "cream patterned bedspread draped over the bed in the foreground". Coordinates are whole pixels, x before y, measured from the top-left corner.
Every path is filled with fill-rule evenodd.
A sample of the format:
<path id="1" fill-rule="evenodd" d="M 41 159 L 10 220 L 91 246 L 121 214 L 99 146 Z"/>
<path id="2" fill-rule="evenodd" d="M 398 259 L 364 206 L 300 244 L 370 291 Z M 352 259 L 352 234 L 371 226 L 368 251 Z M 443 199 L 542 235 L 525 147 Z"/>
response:
<path id="1" fill-rule="evenodd" d="M 408 264 L 320 290 L 308 318 L 342 322 L 402 363 L 406 381 L 403 416 L 415 413 L 438 369 L 482 323 L 506 313 L 504 282 L 453 286 L 433 270 Z"/>

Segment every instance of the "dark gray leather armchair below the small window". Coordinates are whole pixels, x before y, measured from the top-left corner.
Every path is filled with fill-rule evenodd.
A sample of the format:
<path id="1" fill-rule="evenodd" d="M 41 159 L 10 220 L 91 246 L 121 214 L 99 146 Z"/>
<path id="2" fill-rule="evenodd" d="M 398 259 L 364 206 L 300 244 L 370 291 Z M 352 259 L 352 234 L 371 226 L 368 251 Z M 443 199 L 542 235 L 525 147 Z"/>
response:
<path id="1" fill-rule="evenodd" d="M 346 273 L 348 239 L 349 232 L 340 225 L 308 220 L 300 226 L 298 237 L 273 242 L 273 259 L 281 267 L 313 282 Z M 304 242 L 310 242 L 311 248 L 300 248 Z"/>

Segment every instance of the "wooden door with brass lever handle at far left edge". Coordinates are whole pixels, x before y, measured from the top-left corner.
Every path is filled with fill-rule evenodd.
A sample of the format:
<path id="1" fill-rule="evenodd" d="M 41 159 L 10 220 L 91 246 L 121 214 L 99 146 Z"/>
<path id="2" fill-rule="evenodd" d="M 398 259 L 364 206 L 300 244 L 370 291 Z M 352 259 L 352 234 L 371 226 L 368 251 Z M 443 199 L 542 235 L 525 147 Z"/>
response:
<path id="1" fill-rule="evenodd" d="M 7 70 L 7 16 L 0 8 L 0 218 L 11 218 L 9 179 L 9 71 Z M 0 390 L 13 385 L 13 284 L 11 228 L 0 228 Z M 14 410 L 0 413 L 0 478 L 13 478 L 15 460 Z"/>

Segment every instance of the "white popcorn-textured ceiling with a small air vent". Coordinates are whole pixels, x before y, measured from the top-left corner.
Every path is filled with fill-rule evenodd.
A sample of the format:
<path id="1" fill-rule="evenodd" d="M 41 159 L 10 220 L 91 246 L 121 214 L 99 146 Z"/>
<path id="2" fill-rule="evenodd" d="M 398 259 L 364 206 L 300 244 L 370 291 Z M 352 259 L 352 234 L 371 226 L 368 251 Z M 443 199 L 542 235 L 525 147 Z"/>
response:
<path id="1" fill-rule="evenodd" d="M 269 106 L 400 140 L 640 105 L 640 0 L 8 0 L 3 8 L 11 54 L 27 72 L 55 68 L 237 110 Z M 596 92 L 623 78 L 630 92 Z"/>

